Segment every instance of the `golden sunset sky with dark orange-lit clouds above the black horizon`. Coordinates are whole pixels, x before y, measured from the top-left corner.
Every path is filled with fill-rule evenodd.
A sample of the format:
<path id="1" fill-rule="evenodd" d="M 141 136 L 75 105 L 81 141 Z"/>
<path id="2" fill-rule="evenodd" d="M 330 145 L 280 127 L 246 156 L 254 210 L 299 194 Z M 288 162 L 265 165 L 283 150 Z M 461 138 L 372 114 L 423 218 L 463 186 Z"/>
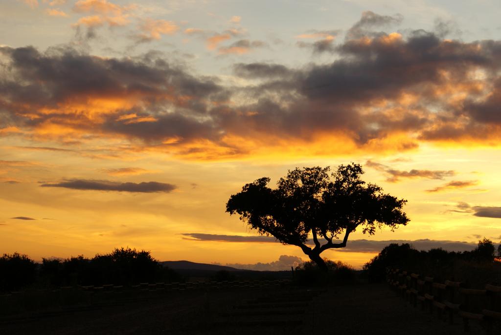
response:
<path id="1" fill-rule="evenodd" d="M 391 242 L 501 239 L 497 1 L 0 1 L 0 252 L 129 246 L 287 269 L 225 212 L 245 183 L 351 162 L 408 202 Z"/>

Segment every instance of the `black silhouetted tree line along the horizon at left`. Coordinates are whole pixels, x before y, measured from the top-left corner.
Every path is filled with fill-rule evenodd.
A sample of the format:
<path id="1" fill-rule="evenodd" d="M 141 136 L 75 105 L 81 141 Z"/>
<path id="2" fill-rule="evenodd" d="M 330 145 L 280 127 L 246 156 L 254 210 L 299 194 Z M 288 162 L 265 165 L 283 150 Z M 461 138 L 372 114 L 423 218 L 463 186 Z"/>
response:
<path id="1" fill-rule="evenodd" d="M 162 266 L 150 251 L 129 247 L 98 253 L 92 258 L 83 255 L 66 259 L 43 258 L 42 263 L 17 252 L 0 257 L 0 291 L 27 286 L 134 285 L 179 279 L 179 274 Z"/>

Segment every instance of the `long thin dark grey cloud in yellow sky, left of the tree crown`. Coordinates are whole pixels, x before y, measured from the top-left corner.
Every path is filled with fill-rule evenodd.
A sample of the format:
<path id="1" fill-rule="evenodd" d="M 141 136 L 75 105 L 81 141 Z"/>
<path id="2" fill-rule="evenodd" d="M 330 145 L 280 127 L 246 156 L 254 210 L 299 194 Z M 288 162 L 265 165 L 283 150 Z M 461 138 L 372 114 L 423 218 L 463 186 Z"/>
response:
<path id="1" fill-rule="evenodd" d="M 64 187 L 75 190 L 94 190 L 94 191 L 118 191 L 118 192 L 171 192 L 176 189 L 175 185 L 167 183 L 159 183 L 155 181 L 141 183 L 119 183 L 108 180 L 86 180 L 72 179 L 53 184 L 42 184 L 42 187 Z"/>

